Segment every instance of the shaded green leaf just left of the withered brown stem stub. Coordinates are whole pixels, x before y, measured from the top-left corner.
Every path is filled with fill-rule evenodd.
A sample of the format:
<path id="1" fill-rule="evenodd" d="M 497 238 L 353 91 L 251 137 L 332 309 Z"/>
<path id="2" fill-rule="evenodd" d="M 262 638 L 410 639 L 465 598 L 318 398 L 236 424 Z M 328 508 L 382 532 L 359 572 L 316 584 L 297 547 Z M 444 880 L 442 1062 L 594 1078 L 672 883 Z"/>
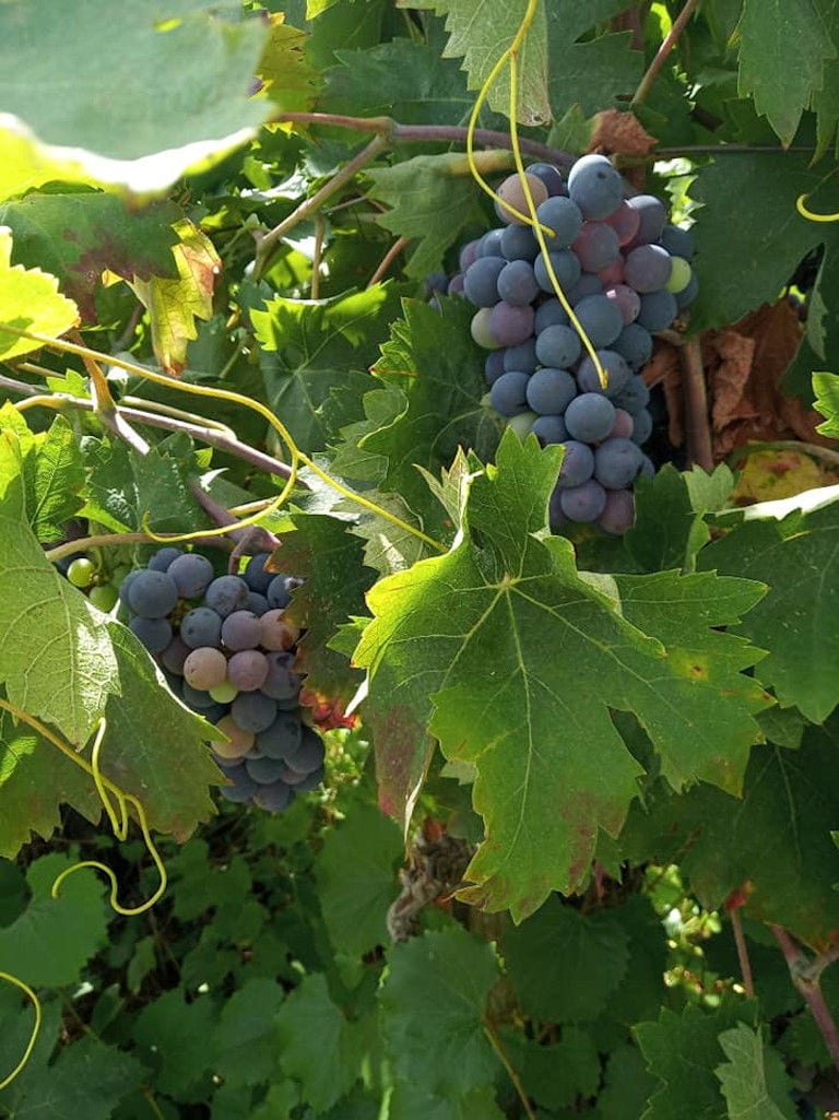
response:
<path id="1" fill-rule="evenodd" d="M 395 898 L 404 849 L 399 829 L 375 805 L 353 805 L 317 857 L 318 897 L 338 953 L 362 956 L 388 941 L 384 915 Z"/>

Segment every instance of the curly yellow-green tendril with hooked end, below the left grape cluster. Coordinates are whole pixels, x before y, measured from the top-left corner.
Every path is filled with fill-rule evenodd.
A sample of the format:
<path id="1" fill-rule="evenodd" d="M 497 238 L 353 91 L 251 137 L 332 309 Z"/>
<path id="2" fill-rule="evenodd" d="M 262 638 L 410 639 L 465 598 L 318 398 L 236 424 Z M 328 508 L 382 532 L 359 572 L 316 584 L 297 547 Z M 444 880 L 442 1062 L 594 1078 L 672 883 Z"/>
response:
<path id="1" fill-rule="evenodd" d="M 137 814 L 137 821 L 140 825 L 140 832 L 142 833 L 143 842 L 146 843 L 146 848 L 148 849 L 152 862 L 157 868 L 158 875 L 160 876 L 160 884 L 150 898 L 147 898 L 146 902 L 141 903 L 139 906 L 130 906 L 130 907 L 123 906 L 119 902 L 120 885 L 116 879 L 116 876 L 111 870 L 111 868 L 106 867 L 104 864 L 100 864 L 99 860 L 85 859 L 78 864 L 74 864 L 73 867 L 68 867 L 66 870 L 62 871 L 62 874 L 56 878 L 55 883 L 53 884 L 53 890 L 52 890 L 53 898 L 58 897 L 58 892 L 60 889 L 60 886 L 67 878 L 67 876 L 73 875 L 74 871 L 78 871 L 83 867 L 92 867 L 97 871 L 102 871 L 102 874 L 108 877 L 108 880 L 111 884 L 110 904 L 111 908 L 116 914 L 122 914 L 124 917 L 133 917 L 137 914 L 145 914 L 146 911 L 150 909 L 155 905 L 155 903 L 157 903 L 162 897 L 168 883 L 168 876 L 166 874 L 166 867 L 164 866 L 164 861 L 160 858 L 160 853 L 155 846 L 155 841 L 151 839 L 151 832 L 149 831 L 149 822 L 146 816 L 146 810 L 142 803 L 138 801 L 138 799 L 134 797 L 133 794 L 125 793 L 124 790 L 121 790 L 120 786 L 118 786 L 109 777 L 105 777 L 105 775 L 100 769 L 99 755 L 100 755 L 100 749 L 102 747 L 102 740 L 104 738 L 105 726 L 106 726 L 104 717 L 100 720 L 100 725 L 96 729 L 96 736 L 93 740 L 92 759 L 88 763 L 86 758 L 82 758 L 82 756 L 78 755 L 68 744 L 66 744 L 62 738 L 59 738 L 59 736 L 57 736 L 55 731 L 50 730 L 45 724 L 41 724 L 39 719 L 35 718 L 35 716 L 30 716 L 29 712 L 26 712 L 21 708 L 18 708 L 17 704 L 13 704 L 9 700 L 3 700 L 0 698 L 0 708 L 4 708 L 7 711 L 11 712 L 15 719 L 17 719 L 19 722 L 27 724 L 29 727 L 31 727 L 32 730 L 38 732 L 38 735 L 45 738 L 48 743 L 52 743 L 54 747 L 57 747 L 57 749 L 60 750 L 60 753 L 66 758 L 69 758 L 69 760 L 74 763 L 74 765 L 78 766 L 81 769 L 85 772 L 85 774 L 90 775 L 93 778 L 93 783 L 96 786 L 96 792 L 99 793 L 102 804 L 104 805 L 105 812 L 108 813 L 108 819 L 110 820 L 111 827 L 113 829 L 113 833 L 118 840 L 124 840 L 128 837 L 128 822 L 129 822 L 128 811 L 129 808 L 134 810 L 134 813 Z M 116 800 L 119 816 L 116 810 L 114 810 L 110 799 L 108 797 L 109 793 Z"/>

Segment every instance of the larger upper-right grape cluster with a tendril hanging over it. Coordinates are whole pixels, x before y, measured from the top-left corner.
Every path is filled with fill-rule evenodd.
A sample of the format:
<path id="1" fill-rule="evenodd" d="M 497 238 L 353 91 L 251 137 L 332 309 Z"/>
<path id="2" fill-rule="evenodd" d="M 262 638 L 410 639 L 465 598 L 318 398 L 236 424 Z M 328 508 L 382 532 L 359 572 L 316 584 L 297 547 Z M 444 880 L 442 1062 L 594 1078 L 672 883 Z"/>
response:
<path id="1" fill-rule="evenodd" d="M 551 528 L 597 522 L 621 533 L 633 522 L 635 478 L 654 472 L 641 449 L 653 423 L 640 371 L 653 334 L 696 298 L 693 245 L 668 224 L 661 199 L 624 197 L 624 180 L 604 156 L 584 156 L 567 180 L 535 164 L 526 180 L 539 222 L 551 231 L 547 259 L 531 226 L 496 203 L 503 225 L 463 246 L 447 291 L 477 308 L 472 335 L 490 351 L 484 370 L 496 412 L 542 446 L 565 446 Z M 518 175 L 498 197 L 528 214 Z M 605 386 L 554 279 L 597 352 Z"/>

